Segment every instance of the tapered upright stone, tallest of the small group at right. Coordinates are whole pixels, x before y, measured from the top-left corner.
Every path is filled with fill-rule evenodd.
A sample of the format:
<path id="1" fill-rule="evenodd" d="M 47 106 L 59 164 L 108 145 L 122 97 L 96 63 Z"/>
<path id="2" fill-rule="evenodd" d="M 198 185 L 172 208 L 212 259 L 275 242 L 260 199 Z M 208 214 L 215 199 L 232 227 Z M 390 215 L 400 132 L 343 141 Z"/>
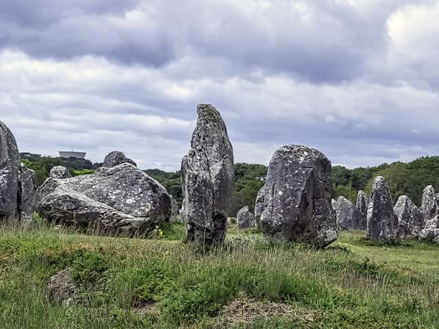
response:
<path id="1" fill-rule="evenodd" d="M 396 225 L 388 184 L 385 178 L 377 176 L 372 185 L 368 206 L 368 239 L 382 243 L 393 242 L 396 238 Z"/>

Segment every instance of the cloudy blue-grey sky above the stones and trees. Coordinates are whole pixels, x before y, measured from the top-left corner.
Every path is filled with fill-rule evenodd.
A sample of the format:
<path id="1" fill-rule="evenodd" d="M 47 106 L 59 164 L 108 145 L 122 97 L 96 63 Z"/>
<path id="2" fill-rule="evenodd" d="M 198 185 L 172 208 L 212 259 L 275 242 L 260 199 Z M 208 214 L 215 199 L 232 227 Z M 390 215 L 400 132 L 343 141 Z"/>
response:
<path id="1" fill-rule="evenodd" d="M 174 171 L 198 103 L 235 162 L 439 155 L 439 0 L 2 0 L 0 120 L 20 151 Z"/>

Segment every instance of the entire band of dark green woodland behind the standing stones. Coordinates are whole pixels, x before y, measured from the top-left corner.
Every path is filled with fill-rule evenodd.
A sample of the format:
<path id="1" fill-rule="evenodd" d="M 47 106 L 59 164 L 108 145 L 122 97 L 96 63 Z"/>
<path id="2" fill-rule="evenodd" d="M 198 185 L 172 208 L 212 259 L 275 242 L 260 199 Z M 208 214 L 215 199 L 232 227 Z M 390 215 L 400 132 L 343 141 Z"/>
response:
<path id="1" fill-rule="evenodd" d="M 75 158 L 51 158 L 38 154 L 21 154 L 22 161 L 29 169 L 36 172 L 38 185 L 43 184 L 49 176 L 51 168 L 62 165 L 67 167 L 72 175 L 93 173 L 100 167 L 100 163 L 90 160 Z M 230 216 L 235 216 L 237 210 L 243 206 L 254 208 L 259 188 L 261 188 L 267 175 L 267 167 L 263 164 L 235 164 L 235 187 L 233 198 L 228 210 Z M 182 189 L 180 184 L 180 171 L 166 172 L 160 169 L 147 169 L 145 173 L 161 182 L 177 201 L 182 202 Z M 333 167 L 333 198 L 343 195 L 355 203 L 357 192 L 364 190 L 370 193 L 372 181 L 377 175 L 388 180 L 390 192 L 394 202 L 401 195 L 408 195 L 416 204 L 420 205 L 422 192 L 425 186 L 433 185 L 439 190 L 439 156 L 421 157 L 412 162 L 394 162 L 381 164 L 377 167 L 359 167 L 348 169 L 342 166 Z"/>

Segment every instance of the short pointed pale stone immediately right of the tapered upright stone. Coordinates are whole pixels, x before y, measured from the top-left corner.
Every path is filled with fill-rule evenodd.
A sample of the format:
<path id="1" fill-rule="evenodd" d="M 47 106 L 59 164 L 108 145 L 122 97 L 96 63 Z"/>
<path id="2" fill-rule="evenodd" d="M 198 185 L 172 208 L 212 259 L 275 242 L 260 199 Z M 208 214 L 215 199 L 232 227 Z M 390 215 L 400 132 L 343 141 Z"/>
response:
<path id="1" fill-rule="evenodd" d="M 394 206 L 394 214 L 398 219 L 398 239 L 418 236 L 423 229 L 423 215 L 407 195 L 401 195 Z"/>

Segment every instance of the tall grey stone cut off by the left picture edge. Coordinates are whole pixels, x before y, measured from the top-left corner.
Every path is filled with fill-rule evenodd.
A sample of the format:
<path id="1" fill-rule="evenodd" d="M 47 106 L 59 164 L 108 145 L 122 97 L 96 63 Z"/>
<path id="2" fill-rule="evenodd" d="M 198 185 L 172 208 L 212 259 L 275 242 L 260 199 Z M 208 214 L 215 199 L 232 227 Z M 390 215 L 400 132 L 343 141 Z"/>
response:
<path id="1" fill-rule="evenodd" d="M 14 135 L 0 121 L 0 219 L 19 212 L 20 154 Z"/>

